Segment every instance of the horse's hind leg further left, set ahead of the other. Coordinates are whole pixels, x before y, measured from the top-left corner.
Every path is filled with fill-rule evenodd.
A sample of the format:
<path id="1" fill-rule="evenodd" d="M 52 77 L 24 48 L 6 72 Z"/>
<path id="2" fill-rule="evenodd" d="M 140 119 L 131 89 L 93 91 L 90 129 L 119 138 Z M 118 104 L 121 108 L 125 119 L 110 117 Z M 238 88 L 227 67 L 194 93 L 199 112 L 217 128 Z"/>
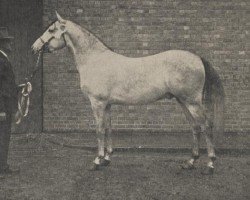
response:
<path id="1" fill-rule="evenodd" d="M 192 133 L 193 133 L 192 156 L 181 167 L 183 169 L 194 169 L 195 161 L 197 161 L 200 156 L 199 149 L 200 149 L 201 127 L 198 124 L 196 124 L 195 119 L 193 118 L 190 111 L 187 109 L 186 105 L 182 103 L 179 99 L 177 99 L 177 101 L 180 103 L 188 122 L 192 126 Z"/>

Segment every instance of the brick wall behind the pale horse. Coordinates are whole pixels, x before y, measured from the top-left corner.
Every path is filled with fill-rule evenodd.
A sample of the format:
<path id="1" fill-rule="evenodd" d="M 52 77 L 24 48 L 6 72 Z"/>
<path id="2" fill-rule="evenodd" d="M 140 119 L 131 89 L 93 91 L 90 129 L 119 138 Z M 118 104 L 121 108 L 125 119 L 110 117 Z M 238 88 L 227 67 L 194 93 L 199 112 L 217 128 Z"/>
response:
<path id="1" fill-rule="evenodd" d="M 196 53 L 217 69 L 226 92 L 227 132 L 250 130 L 248 0 L 44 0 L 43 23 L 84 25 L 115 52 L 139 57 L 170 49 Z M 188 131 L 174 100 L 113 106 L 115 129 Z M 44 56 L 44 130 L 92 130 L 90 103 L 67 49 Z"/>

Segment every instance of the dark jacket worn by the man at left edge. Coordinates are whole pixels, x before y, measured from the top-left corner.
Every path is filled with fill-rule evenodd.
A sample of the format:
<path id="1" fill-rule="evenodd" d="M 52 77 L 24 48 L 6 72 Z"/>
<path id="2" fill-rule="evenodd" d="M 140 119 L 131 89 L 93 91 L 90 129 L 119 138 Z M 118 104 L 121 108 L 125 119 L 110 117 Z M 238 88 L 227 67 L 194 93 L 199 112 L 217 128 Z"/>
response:
<path id="1" fill-rule="evenodd" d="M 9 60 L 0 52 L 0 112 L 17 111 L 18 90 Z"/>

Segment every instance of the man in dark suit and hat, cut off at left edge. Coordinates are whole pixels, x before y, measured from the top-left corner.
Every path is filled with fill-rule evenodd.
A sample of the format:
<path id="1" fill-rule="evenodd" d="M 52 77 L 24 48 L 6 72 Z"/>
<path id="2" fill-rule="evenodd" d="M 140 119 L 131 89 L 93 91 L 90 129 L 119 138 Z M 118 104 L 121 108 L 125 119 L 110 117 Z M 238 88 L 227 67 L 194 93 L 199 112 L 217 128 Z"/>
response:
<path id="1" fill-rule="evenodd" d="M 7 28 L 0 27 L 0 177 L 19 171 L 7 164 L 12 116 L 18 109 L 18 87 L 8 58 L 12 40 Z"/>

